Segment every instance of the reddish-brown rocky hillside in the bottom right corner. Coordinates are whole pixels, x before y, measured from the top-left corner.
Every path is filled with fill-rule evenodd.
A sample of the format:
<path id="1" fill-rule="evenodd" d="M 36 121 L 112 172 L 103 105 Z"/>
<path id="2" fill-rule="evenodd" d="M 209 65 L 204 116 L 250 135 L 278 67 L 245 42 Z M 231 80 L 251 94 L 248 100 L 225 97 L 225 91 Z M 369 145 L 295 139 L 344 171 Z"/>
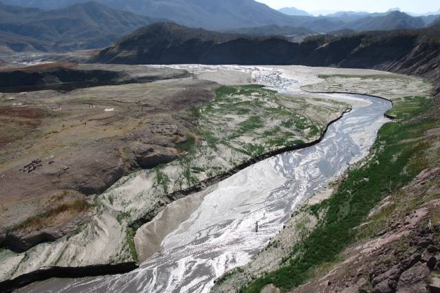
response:
<path id="1" fill-rule="evenodd" d="M 437 194 L 438 175 L 438 168 L 422 171 L 401 189 L 399 200 L 409 202 Z M 424 188 L 430 183 L 426 192 Z M 387 197 L 382 203 L 390 200 L 399 206 L 395 197 Z M 384 230 L 345 250 L 342 263 L 293 292 L 439 292 L 440 223 L 431 221 L 439 207 L 440 200 L 432 199 L 404 215 L 400 209 L 389 208 Z M 371 214 L 364 225 L 371 224 L 377 213 Z"/>

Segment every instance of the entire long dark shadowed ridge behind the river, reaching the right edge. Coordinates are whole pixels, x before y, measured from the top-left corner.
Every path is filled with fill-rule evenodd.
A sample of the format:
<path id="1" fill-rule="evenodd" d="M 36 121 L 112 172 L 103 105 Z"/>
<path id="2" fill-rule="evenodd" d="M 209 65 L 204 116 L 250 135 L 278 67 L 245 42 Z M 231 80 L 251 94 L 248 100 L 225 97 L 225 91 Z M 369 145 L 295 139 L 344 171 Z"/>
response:
<path id="1" fill-rule="evenodd" d="M 146 26 L 91 62 L 282 64 L 384 69 L 440 81 L 440 28 L 312 36 L 303 43 L 254 39 L 181 25 Z"/>

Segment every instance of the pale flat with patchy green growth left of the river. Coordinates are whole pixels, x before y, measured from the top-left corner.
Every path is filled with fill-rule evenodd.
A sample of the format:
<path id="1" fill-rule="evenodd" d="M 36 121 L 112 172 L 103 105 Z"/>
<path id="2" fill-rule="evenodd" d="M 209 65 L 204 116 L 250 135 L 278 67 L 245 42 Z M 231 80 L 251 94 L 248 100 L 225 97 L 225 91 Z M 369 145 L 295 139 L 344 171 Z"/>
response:
<path id="1" fill-rule="evenodd" d="M 221 86 L 214 93 L 211 102 L 188 109 L 194 127 L 185 133 L 186 140 L 175 146 L 184 155 L 151 169 L 147 175 L 153 185 L 142 193 L 169 197 L 195 188 L 203 180 L 228 174 L 259 155 L 312 142 L 325 130 L 329 118 L 337 118 L 349 108 L 333 100 L 278 94 L 261 85 Z M 111 195 L 108 199 L 115 206 L 125 200 L 125 195 Z M 119 215 L 131 214 L 118 217 L 120 224 L 142 218 L 140 223 L 130 225 L 125 238 L 125 246 L 137 261 L 133 238 L 137 229 L 152 217 L 139 217 L 125 210 L 125 206 L 121 210 Z"/>

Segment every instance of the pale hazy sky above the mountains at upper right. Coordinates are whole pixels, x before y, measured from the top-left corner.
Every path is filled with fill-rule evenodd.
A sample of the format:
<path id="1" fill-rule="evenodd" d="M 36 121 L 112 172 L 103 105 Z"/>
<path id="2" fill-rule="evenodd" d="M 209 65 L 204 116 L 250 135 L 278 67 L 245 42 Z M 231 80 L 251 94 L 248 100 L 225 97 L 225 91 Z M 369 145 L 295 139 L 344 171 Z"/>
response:
<path id="1" fill-rule="evenodd" d="M 437 11 L 439 0 L 256 0 L 268 6 L 279 9 L 296 7 L 301 10 L 362 10 L 369 12 L 384 12 L 390 8 L 400 8 L 402 11 L 425 13 Z"/>

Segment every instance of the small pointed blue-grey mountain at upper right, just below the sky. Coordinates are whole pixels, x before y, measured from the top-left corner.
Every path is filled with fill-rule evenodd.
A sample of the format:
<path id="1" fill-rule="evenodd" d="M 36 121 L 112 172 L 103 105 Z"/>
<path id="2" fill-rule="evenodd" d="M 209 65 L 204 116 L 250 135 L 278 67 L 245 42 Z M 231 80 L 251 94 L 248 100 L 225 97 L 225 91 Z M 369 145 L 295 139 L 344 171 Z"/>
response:
<path id="1" fill-rule="evenodd" d="M 379 17 L 365 17 L 352 21 L 344 28 L 361 31 L 367 30 L 404 30 L 412 28 L 423 28 L 425 23 L 419 17 L 410 17 L 408 14 L 399 11 L 393 11 L 389 14 Z"/>

